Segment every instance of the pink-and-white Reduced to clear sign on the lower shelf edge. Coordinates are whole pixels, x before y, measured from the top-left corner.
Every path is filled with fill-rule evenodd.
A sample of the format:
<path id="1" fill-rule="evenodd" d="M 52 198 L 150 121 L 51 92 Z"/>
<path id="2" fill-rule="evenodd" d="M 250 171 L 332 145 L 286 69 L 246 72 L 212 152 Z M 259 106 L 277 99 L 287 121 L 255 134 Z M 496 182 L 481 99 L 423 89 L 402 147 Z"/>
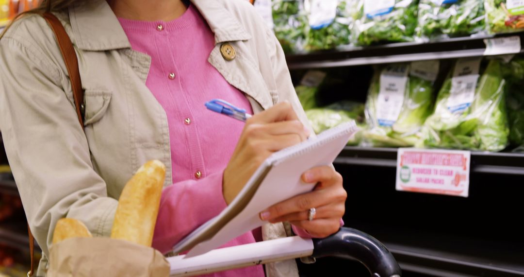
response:
<path id="1" fill-rule="evenodd" d="M 468 197 L 471 152 L 399 148 L 397 190 Z"/>

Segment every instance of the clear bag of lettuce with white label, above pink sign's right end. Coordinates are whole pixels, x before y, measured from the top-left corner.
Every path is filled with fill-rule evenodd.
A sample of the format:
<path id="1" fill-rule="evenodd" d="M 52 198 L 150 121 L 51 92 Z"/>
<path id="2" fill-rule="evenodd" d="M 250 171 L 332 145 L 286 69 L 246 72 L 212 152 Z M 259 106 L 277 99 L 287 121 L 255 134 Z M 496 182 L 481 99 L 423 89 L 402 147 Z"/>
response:
<path id="1" fill-rule="evenodd" d="M 457 60 L 424 127 L 428 147 L 500 151 L 508 143 L 503 61 Z"/>

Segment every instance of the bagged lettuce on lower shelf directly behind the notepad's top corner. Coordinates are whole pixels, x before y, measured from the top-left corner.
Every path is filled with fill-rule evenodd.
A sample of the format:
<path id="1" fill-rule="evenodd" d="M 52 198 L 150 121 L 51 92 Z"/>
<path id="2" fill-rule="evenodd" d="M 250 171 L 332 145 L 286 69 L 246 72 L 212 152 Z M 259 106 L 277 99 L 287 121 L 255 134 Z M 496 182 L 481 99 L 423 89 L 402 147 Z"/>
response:
<path id="1" fill-rule="evenodd" d="M 326 106 L 325 108 L 308 110 L 305 114 L 308 116 L 308 120 L 311 123 L 315 134 L 320 134 L 339 124 L 353 120 L 361 130 L 365 128 L 363 103 L 340 101 Z M 347 142 L 347 145 L 358 145 L 361 141 L 362 131 L 359 131 L 351 137 Z"/>

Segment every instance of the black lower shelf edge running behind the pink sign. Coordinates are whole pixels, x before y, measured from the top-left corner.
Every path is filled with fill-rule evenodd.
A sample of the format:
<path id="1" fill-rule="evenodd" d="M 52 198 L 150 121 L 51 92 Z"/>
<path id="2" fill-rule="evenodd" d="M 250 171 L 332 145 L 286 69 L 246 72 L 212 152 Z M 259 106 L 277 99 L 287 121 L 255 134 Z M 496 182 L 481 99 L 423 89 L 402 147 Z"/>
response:
<path id="1" fill-rule="evenodd" d="M 472 152 L 471 162 L 474 173 L 524 175 L 524 154 Z M 397 149 L 346 146 L 334 163 L 396 167 Z"/>

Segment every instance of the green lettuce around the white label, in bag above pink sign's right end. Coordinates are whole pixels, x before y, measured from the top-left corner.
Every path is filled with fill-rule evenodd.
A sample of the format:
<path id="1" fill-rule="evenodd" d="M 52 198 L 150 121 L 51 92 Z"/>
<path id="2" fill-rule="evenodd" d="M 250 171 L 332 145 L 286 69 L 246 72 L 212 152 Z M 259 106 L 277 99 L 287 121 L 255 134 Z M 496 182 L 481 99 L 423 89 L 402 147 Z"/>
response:
<path id="1" fill-rule="evenodd" d="M 437 97 L 435 112 L 425 123 L 423 144 L 455 149 L 503 150 L 509 133 L 505 86 L 502 61 L 491 60 L 477 81 L 471 106 L 453 112 L 448 108 L 452 94 L 450 72 Z"/>

